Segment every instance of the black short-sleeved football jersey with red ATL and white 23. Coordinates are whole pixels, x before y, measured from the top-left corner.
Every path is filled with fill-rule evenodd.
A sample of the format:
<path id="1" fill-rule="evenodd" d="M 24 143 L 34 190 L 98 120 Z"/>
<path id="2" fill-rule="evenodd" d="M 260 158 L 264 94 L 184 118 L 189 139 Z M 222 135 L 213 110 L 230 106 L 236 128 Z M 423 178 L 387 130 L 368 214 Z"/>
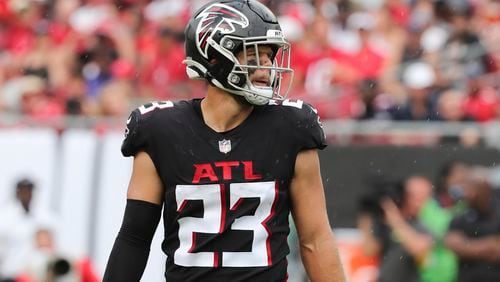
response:
<path id="1" fill-rule="evenodd" d="M 283 281 L 295 159 L 326 146 L 316 110 L 272 102 L 217 133 L 200 102 L 139 107 L 122 145 L 125 156 L 147 152 L 164 185 L 167 280 Z"/>

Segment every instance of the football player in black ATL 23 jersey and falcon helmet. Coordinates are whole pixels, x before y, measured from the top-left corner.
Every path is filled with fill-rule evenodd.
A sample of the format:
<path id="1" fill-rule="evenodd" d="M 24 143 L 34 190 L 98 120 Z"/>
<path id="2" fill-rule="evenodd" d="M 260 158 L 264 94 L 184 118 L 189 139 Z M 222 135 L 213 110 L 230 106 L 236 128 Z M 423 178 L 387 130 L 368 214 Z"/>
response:
<path id="1" fill-rule="evenodd" d="M 168 281 L 285 281 L 288 216 L 312 281 L 343 281 L 325 207 L 316 110 L 285 100 L 290 45 L 261 3 L 217 1 L 185 30 L 205 98 L 153 102 L 127 121 L 134 156 L 104 281 L 138 281 L 163 209 Z"/>

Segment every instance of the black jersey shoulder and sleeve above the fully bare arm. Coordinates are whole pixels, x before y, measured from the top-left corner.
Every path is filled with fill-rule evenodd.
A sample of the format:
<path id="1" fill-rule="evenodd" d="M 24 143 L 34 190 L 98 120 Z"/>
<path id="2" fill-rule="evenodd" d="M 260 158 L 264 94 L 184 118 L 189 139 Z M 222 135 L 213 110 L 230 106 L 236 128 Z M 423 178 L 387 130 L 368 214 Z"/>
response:
<path id="1" fill-rule="evenodd" d="M 280 108 L 284 120 L 295 134 L 301 150 L 323 149 L 326 147 L 325 133 L 318 116 L 318 111 L 302 100 L 283 100 L 281 103 L 272 102 Z"/>

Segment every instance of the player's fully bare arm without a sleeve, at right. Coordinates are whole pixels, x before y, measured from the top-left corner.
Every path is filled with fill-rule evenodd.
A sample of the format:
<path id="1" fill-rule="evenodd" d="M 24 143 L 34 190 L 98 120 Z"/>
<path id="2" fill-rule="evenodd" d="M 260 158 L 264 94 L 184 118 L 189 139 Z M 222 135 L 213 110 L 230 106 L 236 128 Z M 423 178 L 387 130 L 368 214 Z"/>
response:
<path id="1" fill-rule="evenodd" d="M 328 216 L 315 149 L 298 154 L 290 186 L 300 252 L 311 281 L 345 281 Z"/>

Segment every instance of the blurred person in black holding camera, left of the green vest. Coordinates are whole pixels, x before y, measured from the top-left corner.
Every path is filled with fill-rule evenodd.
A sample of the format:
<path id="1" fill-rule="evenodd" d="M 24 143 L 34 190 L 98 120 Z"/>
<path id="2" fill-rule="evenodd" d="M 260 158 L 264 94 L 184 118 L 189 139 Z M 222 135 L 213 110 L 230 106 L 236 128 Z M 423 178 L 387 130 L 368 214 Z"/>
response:
<path id="1" fill-rule="evenodd" d="M 433 244 L 417 219 L 432 196 L 432 186 L 427 184 L 425 177 L 412 176 L 404 183 L 379 187 L 377 194 L 361 202 L 358 227 L 365 253 L 380 259 L 380 282 L 421 281 L 419 267 Z"/>

